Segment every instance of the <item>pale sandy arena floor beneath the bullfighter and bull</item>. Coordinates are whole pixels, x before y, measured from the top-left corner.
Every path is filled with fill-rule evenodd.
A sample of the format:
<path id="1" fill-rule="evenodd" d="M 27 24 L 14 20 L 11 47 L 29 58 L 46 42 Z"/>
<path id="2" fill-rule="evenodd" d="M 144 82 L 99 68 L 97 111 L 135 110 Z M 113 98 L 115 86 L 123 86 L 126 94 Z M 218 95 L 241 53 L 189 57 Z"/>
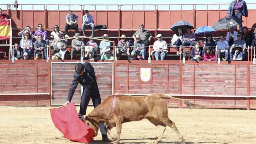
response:
<path id="1" fill-rule="evenodd" d="M 72 143 L 54 127 L 51 107 L 0 108 L 0 143 Z M 78 109 L 78 108 L 77 108 Z M 92 111 L 89 107 L 88 111 Z M 255 144 L 256 111 L 227 109 L 169 109 L 187 144 Z M 112 129 L 115 132 L 115 128 Z M 148 120 L 122 125 L 121 143 L 153 143 L 159 130 Z M 110 138 L 110 137 L 109 137 Z M 102 143 L 101 134 L 94 144 Z M 112 141 L 113 143 L 113 141 Z M 161 143 L 181 143 L 167 127 Z"/>

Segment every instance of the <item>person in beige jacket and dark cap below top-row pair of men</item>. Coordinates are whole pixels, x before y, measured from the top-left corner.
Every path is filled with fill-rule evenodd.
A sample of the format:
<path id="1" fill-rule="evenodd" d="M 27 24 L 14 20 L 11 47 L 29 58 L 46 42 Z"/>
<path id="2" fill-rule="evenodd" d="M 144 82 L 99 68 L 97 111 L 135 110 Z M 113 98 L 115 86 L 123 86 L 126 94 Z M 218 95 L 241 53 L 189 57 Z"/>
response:
<path id="1" fill-rule="evenodd" d="M 79 33 L 75 33 L 75 37 L 80 36 Z M 72 51 L 71 51 L 71 59 L 74 58 L 75 54 L 81 54 L 84 51 L 84 43 L 81 38 L 75 38 L 71 42 Z"/>

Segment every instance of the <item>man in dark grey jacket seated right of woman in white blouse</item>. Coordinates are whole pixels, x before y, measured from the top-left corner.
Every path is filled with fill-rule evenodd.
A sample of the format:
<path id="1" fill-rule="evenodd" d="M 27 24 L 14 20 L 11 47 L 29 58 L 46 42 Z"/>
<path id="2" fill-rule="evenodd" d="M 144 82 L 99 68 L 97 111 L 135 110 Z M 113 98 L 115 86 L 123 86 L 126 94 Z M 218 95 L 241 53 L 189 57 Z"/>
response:
<path id="1" fill-rule="evenodd" d="M 34 51 L 34 57 L 38 52 L 42 53 L 42 58 L 46 59 L 47 57 L 47 45 L 46 41 L 43 40 L 42 34 L 37 35 L 38 40 L 35 41 L 35 51 Z"/>

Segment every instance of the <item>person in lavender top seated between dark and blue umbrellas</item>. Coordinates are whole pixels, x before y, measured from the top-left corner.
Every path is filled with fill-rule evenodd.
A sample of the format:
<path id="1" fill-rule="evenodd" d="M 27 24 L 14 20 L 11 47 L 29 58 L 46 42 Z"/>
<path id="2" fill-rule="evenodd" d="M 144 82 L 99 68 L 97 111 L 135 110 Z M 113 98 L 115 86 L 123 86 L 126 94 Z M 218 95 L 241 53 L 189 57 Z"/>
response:
<path id="1" fill-rule="evenodd" d="M 196 43 L 195 34 L 191 33 L 191 28 L 190 27 L 187 28 L 187 33 L 185 33 L 182 38 L 183 38 L 184 42 L 181 45 L 182 46 L 181 51 L 183 50 L 184 46 L 194 46 L 195 43 Z"/>

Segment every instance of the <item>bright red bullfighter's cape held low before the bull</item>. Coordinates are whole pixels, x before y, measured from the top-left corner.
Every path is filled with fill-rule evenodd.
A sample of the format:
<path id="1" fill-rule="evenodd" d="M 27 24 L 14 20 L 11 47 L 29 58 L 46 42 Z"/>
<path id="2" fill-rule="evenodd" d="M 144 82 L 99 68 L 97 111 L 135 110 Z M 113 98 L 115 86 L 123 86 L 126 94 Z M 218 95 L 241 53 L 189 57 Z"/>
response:
<path id="1" fill-rule="evenodd" d="M 50 109 L 55 127 L 70 141 L 90 143 L 93 141 L 93 129 L 78 118 L 75 104 Z"/>

